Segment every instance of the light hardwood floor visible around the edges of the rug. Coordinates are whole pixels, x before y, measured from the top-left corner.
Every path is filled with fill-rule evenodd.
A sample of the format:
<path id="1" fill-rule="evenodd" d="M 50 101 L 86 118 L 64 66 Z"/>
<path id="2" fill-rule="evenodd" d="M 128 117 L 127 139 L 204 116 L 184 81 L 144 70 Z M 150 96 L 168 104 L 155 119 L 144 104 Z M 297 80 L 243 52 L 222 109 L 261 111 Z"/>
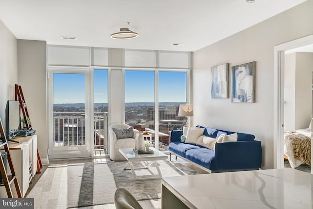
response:
<path id="1" fill-rule="evenodd" d="M 175 157 L 174 157 L 175 158 Z M 26 197 L 34 197 L 35 209 L 49 208 L 49 209 L 66 209 L 67 208 L 67 196 L 64 192 L 67 192 L 67 164 L 72 163 L 87 163 L 87 162 L 106 162 L 110 161 L 109 158 L 95 158 L 95 159 L 73 159 L 73 160 L 50 160 L 49 165 L 44 165 L 42 172 L 36 174 L 33 178 L 33 183 L 30 184 L 29 189 L 26 192 Z M 184 164 L 199 173 L 207 173 L 197 166 L 191 163 L 185 162 L 181 159 L 177 159 L 179 163 Z M 49 175 L 45 175 L 47 169 Z M 53 178 L 52 183 L 45 183 L 45 179 Z M 47 181 L 48 182 L 48 181 Z M 144 209 L 160 209 L 161 199 L 139 201 L 140 205 Z M 79 209 L 115 209 L 114 204 L 98 205 L 83 207 Z"/>

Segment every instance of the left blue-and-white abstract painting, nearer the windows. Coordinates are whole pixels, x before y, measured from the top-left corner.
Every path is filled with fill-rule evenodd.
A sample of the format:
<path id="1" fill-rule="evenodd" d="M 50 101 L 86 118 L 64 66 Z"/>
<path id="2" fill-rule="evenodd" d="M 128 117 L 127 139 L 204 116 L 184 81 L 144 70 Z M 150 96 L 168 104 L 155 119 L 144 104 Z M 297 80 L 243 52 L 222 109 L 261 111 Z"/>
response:
<path id="1" fill-rule="evenodd" d="M 211 67 L 211 98 L 228 98 L 228 66 Z"/>

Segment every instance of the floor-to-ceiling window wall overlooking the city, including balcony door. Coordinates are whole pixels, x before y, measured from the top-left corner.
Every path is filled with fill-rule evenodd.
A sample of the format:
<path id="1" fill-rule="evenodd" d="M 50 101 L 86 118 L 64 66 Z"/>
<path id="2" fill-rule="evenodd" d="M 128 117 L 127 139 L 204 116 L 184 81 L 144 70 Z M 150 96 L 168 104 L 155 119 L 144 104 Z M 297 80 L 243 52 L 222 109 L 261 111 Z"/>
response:
<path id="1" fill-rule="evenodd" d="M 183 123 L 177 115 L 179 104 L 188 101 L 186 80 L 192 67 L 191 52 L 57 45 L 48 45 L 47 49 L 49 158 L 109 154 L 108 126 L 123 122 L 140 132 L 147 131 L 145 139 L 151 140 L 156 148 L 168 149 L 170 131 L 181 129 Z M 60 122 L 53 122 L 57 120 L 53 109 L 53 73 L 85 75 L 85 109 L 81 104 L 71 104 L 85 111 L 81 119 L 67 114 L 68 119 L 60 116 Z M 121 78 L 125 78 L 125 83 Z M 63 87 L 61 93 L 74 86 L 72 92 L 78 91 L 82 82 L 66 86 L 72 80 L 65 80 L 58 87 L 56 83 L 55 87 Z M 66 103 L 66 100 L 60 101 L 64 112 L 70 111 L 66 110 Z M 79 120 L 83 124 L 77 124 Z M 79 131 L 74 130 L 76 127 L 86 128 L 82 131 L 82 134 L 85 132 L 82 141 Z M 63 128 L 68 130 L 65 132 Z M 56 148 L 60 147 L 63 148 L 58 152 Z"/>

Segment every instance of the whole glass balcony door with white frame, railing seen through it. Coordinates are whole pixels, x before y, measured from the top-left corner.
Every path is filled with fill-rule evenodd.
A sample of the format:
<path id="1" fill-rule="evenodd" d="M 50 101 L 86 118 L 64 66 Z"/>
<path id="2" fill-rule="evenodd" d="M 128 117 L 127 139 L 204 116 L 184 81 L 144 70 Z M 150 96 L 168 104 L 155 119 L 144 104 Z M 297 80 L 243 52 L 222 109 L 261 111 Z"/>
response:
<path id="1" fill-rule="evenodd" d="M 49 70 L 50 159 L 90 157 L 89 80 L 89 70 Z"/>

